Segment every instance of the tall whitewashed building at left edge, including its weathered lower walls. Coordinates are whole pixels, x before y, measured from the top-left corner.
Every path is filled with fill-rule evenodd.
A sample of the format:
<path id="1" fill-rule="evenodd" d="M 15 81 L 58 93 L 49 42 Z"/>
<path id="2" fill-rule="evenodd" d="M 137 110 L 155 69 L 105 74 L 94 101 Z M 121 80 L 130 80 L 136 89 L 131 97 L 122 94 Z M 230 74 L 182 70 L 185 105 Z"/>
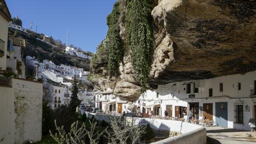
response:
<path id="1" fill-rule="evenodd" d="M 0 1 L 0 144 L 42 139 L 42 82 L 6 78 L 8 23 L 11 14 Z"/>

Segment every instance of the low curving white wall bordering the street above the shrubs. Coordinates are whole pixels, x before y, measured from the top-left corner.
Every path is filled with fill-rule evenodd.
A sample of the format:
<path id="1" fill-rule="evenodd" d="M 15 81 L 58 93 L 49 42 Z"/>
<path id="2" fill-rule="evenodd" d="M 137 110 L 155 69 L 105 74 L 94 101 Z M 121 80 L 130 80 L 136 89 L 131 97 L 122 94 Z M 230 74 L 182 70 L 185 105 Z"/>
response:
<path id="1" fill-rule="evenodd" d="M 110 122 L 109 115 L 95 114 L 84 110 L 77 109 L 80 113 L 85 113 L 87 117 L 91 118 L 93 115 L 96 120 L 105 120 Z M 129 117 L 127 117 L 129 118 Z M 172 143 L 172 144 L 206 144 L 206 129 L 200 125 L 176 121 L 176 120 L 165 120 L 165 119 L 150 119 L 150 118 L 139 118 L 137 122 L 146 125 L 150 123 L 150 126 L 155 130 L 169 130 L 177 131 L 182 134 L 174 137 L 169 137 L 164 140 L 160 140 L 154 143 Z"/>

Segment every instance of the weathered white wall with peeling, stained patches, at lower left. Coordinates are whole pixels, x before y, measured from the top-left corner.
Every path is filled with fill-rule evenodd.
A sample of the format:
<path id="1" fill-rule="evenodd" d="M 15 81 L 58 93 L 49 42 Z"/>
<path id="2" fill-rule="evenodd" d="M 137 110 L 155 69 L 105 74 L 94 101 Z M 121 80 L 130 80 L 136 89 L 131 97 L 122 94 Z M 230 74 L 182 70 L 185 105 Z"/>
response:
<path id="1" fill-rule="evenodd" d="M 15 103 L 15 143 L 42 139 L 43 84 L 13 79 Z"/>

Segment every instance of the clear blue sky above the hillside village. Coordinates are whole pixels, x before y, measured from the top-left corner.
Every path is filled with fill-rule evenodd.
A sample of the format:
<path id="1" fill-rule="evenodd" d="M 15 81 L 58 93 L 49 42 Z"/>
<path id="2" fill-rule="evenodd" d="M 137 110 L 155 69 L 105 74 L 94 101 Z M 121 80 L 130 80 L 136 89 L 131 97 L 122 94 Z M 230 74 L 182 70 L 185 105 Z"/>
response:
<path id="1" fill-rule="evenodd" d="M 106 17 L 116 0 L 6 0 L 12 17 L 19 16 L 24 28 L 52 36 L 85 51 L 95 52 L 107 33 Z"/>

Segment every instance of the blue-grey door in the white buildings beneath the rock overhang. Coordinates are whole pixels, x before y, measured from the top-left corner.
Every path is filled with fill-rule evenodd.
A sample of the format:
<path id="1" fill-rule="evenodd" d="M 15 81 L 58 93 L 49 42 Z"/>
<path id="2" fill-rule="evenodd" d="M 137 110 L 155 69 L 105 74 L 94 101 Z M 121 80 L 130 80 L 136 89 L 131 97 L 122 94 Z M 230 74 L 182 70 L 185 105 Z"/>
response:
<path id="1" fill-rule="evenodd" d="M 227 127 L 227 102 L 215 103 L 216 125 Z"/>

